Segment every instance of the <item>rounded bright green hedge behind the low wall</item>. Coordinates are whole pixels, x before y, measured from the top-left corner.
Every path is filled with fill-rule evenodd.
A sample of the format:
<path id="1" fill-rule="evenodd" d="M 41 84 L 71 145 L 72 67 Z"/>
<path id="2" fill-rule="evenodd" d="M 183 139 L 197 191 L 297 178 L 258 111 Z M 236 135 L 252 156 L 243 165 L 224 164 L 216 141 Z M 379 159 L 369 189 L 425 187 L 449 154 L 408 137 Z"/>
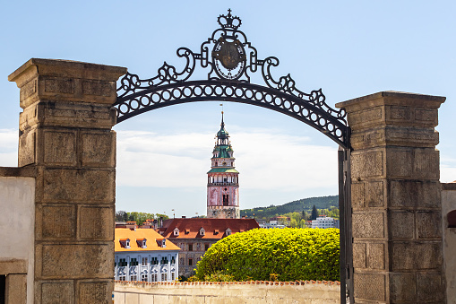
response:
<path id="1" fill-rule="evenodd" d="M 196 269 L 198 280 L 340 281 L 339 229 L 255 229 L 214 244 Z"/>

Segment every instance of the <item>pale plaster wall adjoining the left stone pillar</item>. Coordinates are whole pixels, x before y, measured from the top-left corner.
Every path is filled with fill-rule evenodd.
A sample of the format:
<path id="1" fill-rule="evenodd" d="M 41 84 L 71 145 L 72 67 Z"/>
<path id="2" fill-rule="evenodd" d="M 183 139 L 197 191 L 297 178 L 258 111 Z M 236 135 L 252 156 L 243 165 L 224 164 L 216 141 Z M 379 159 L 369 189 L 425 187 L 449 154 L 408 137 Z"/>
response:
<path id="1" fill-rule="evenodd" d="M 0 258 L 28 260 L 27 303 L 33 303 L 35 178 L 0 177 Z"/>

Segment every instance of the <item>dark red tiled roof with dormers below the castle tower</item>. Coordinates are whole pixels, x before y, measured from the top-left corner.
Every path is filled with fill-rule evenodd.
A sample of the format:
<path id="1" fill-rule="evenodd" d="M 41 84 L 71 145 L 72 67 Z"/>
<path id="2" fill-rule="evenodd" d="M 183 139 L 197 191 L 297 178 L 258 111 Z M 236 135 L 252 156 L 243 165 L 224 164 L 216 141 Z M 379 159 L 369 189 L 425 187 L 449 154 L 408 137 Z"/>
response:
<path id="1" fill-rule="evenodd" d="M 174 235 L 176 228 L 178 236 Z M 200 234 L 202 228 L 206 231 L 203 236 Z M 163 221 L 162 229 L 165 231 L 162 235 L 168 239 L 222 239 L 228 228 L 231 233 L 237 233 L 260 226 L 254 219 L 169 219 Z"/>

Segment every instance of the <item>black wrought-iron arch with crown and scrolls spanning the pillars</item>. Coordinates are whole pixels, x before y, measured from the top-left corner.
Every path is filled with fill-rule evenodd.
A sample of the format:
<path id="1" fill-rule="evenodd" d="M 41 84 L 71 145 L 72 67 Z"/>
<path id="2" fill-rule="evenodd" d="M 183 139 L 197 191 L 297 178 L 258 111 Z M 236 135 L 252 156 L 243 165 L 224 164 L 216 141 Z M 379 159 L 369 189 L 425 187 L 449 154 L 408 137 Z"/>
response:
<path id="1" fill-rule="evenodd" d="M 332 109 L 322 89 L 300 91 L 288 74 L 272 77 L 271 67 L 279 65 L 274 56 L 258 59 L 257 50 L 239 30 L 241 19 L 220 15 L 219 29 L 202 42 L 200 52 L 178 48 L 185 66 L 177 70 L 164 63 L 157 75 L 141 79 L 127 73 L 117 88 L 117 123 L 143 112 L 173 104 L 204 101 L 237 101 L 273 109 L 313 126 L 344 148 L 349 148 L 349 128 L 345 109 Z M 208 70 L 207 79 L 191 80 L 199 63 Z M 251 83 L 251 74 L 261 73 L 265 85 Z"/>

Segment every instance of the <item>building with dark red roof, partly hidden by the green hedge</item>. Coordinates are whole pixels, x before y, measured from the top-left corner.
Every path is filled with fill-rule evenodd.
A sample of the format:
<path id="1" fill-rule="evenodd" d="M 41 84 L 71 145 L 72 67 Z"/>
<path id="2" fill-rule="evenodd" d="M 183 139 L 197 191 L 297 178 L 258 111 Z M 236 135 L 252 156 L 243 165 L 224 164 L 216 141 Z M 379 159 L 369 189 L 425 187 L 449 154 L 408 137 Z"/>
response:
<path id="1" fill-rule="evenodd" d="M 194 274 L 196 263 L 219 239 L 237 232 L 260 228 L 254 219 L 169 219 L 163 221 L 159 233 L 172 240 L 179 252 L 179 275 Z"/>

